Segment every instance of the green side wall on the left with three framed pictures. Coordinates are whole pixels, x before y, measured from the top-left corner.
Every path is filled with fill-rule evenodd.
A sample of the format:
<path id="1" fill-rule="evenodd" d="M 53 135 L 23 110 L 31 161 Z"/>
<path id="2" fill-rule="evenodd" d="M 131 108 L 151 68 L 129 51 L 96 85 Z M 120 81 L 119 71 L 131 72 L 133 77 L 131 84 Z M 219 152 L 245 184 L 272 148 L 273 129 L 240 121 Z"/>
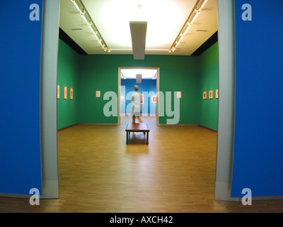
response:
<path id="1" fill-rule="evenodd" d="M 57 128 L 62 129 L 78 123 L 77 106 L 79 94 L 79 55 L 59 40 L 58 85 L 60 99 L 57 99 Z M 67 87 L 67 99 L 64 99 L 64 87 Z M 74 99 L 70 100 L 70 88 L 74 89 Z"/>

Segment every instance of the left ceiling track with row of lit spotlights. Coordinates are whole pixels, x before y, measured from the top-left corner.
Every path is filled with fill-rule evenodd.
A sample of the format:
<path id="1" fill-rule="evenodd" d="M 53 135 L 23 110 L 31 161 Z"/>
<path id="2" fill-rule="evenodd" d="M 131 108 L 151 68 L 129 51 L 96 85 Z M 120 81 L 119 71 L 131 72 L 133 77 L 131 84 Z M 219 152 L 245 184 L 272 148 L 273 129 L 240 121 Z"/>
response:
<path id="1" fill-rule="evenodd" d="M 102 35 L 100 35 L 98 29 L 93 23 L 91 16 L 89 15 L 82 1 L 81 0 L 70 0 L 70 1 L 74 4 L 74 6 L 76 7 L 76 10 L 79 11 L 83 20 L 86 21 L 88 28 L 91 29 L 91 32 L 93 33 L 93 35 L 95 35 L 96 39 L 98 40 L 98 43 L 101 45 L 101 48 L 103 48 L 105 52 L 106 51 L 111 52 L 111 50 L 108 48 L 108 45 L 106 45 L 105 41 L 103 40 Z"/>

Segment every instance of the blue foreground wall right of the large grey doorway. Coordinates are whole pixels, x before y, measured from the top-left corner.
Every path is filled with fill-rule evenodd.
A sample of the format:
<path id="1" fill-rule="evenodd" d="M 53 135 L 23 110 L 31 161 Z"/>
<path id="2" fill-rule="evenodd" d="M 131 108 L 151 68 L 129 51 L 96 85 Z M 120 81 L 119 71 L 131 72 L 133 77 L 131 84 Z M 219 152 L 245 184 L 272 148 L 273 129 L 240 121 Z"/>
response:
<path id="1" fill-rule="evenodd" d="M 243 4 L 252 21 L 243 21 Z M 236 0 L 232 197 L 283 195 L 283 1 Z"/>

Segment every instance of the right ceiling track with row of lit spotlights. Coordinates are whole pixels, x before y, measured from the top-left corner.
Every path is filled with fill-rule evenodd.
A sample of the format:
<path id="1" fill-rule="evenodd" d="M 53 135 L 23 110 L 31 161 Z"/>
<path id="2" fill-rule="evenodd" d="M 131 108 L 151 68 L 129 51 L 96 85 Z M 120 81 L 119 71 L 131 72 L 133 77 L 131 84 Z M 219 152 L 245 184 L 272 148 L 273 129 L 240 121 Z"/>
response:
<path id="1" fill-rule="evenodd" d="M 185 37 L 185 34 L 190 30 L 190 27 L 193 23 L 195 23 L 195 20 L 197 19 L 197 16 L 200 15 L 200 12 L 202 9 L 204 9 L 205 4 L 207 4 L 208 0 L 198 0 L 195 4 L 194 9 L 192 9 L 190 16 L 187 18 L 187 21 L 185 22 L 185 25 L 181 29 L 180 33 L 178 34 L 177 38 L 175 39 L 173 45 L 171 45 L 171 48 L 169 49 L 169 52 L 174 52 L 177 48 L 177 46 L 180 44 L 180 42 Z"/>

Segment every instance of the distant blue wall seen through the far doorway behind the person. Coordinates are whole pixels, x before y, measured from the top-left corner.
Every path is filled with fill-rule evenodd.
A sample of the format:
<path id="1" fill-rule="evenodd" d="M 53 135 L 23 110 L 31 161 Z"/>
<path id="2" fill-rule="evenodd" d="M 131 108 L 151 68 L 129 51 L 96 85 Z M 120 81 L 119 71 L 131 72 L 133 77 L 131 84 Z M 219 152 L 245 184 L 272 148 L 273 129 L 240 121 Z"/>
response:
<path id="1" fill-rule="evenodd" d="M 141 84 L 137 84 L 136 79 L 121 79 L 121 86 L 125 86 L 125 94 L 121 96 L 125 96 L 125 101 L 121 102 L 121 114 L 126 113 L 127 105 L 130 103 L 130 92 L 134 91 L 134 85 L 139 86 L 139 93 L 142 92 L 154 92 L 156 95 L 156 79 L 142 79 Z M 126 99 L 128 94 L 128 100 Z M 131 105 L 131 104 L 130 104 Z M 156 104 L 151 103 L 151 96 L 148 97 L 147 100 L 147 108 L 146 108 L 146 100 L 144 100 L 144 105 L 141 106 L 141 114 L 156 114 Z M 131 111 L 127 111 L 127 114 L 130 114 Z"/>

